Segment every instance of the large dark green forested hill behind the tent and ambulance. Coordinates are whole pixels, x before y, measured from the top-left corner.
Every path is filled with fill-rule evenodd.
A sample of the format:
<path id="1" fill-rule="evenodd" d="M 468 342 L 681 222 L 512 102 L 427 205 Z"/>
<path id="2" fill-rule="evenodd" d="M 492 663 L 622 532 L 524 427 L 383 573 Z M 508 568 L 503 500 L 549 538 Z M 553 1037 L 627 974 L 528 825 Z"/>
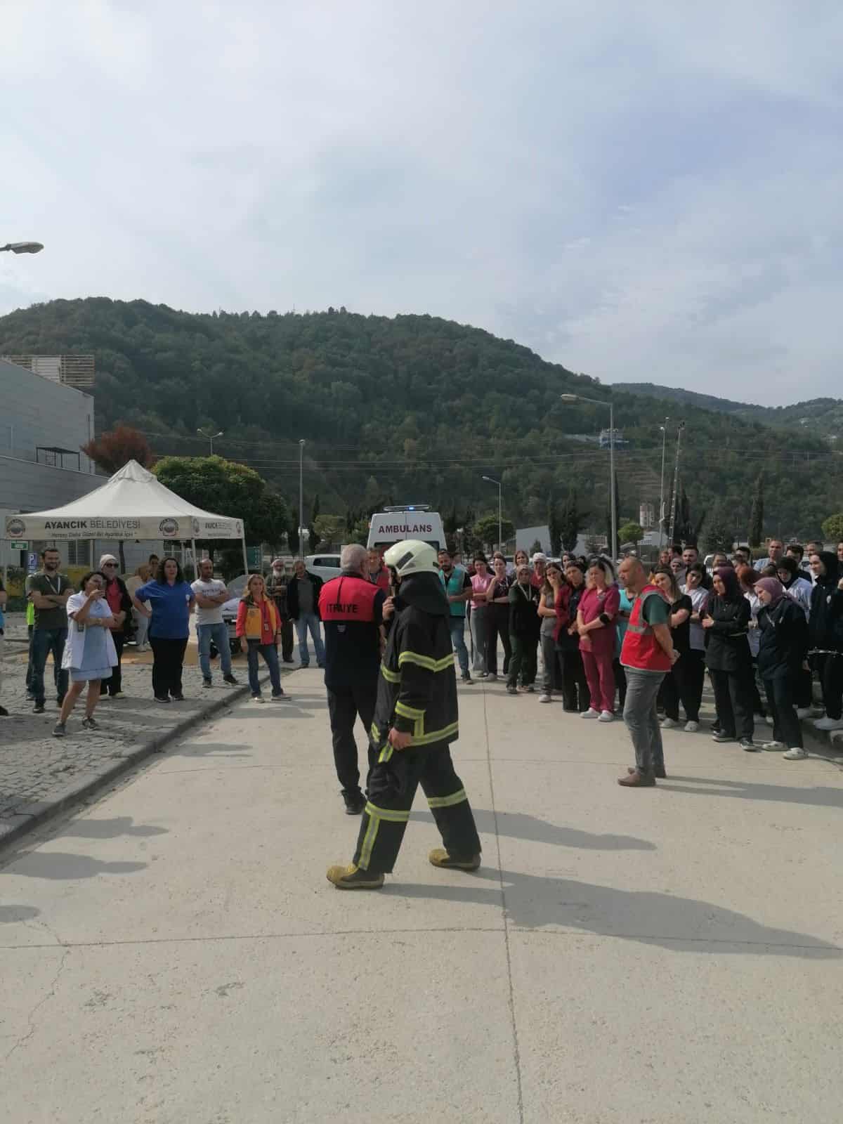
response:
<path id="1" fill-rule="evenodd" d="M 597 447 L 608 411 L 563 392 L 607 399 L 608 388 L 487 332 L 429 316 L 326 312 L 193 315 L 146 301 L 56 300 L 0 318 L 0 354 L 92 352 L 99 430 L 124 420 L 156 453 L 200 453 L 197 427 L 223 429 L 224 456 L 252 464 L 290 498 L 306 439 L 308 496 L 323 511 L 383 501 L 428 501 L 462 518 L 504 506 L 517 524 L 544 523 L 547 504 L 577 489 L 605 529 L 607 455 Z M 622 517 L 658 504 L 659 425 L 671 405 L 614 388 Z M 676 413 L 673 408 L 672 413 Z M 765 470 L 768 532 L 813 535 L 840 508 L 841 472 L 809 433 L 692 404 L 682 483 L 692 515 L 719 500 L 745 527 Z M 668 473 L 674 434 L 669 435 Z M 819 459 L 817 459 L 819 457 Z M 293 505 L 294 506 L 294 505 Z"/>

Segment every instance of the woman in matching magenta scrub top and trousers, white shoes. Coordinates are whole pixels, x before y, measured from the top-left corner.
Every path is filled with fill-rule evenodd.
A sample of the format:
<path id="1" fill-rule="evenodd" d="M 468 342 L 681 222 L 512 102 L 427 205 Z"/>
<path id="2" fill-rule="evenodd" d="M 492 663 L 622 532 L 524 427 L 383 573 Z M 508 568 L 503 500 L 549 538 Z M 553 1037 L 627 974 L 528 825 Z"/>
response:
<path id="1" fill-rule="evenodd" d="M 604 559 L 593 559 L 589 563 L 588 579 L 588 589 L 577 610 L 577 629 L 591 706 L 580 717 L 614 722 L 615 672 L 611 663 L 615 659 L 615 620 L 620 608 L 620 593 L 617 586 L 609 584 L 614 574 Z"/>

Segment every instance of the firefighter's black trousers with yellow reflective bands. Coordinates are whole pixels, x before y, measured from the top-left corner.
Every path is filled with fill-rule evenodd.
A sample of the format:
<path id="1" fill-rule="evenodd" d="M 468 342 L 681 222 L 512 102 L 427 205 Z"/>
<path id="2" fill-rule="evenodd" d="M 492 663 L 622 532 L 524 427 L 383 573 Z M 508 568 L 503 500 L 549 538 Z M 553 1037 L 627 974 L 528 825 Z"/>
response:
<path id="1" fill-rule="evenodd" d="M 389 746 L 381 756 L 388 752 Z M 474 816 L 447 745 L 410 746 L 392 751 L 388 761 L 379 761 L 369 772 L 369 800 L 354 852 L 362 870 L 378 874 L 392 870 L 419 785 L 447 853 L 454 859 L 480 854 Z"/>

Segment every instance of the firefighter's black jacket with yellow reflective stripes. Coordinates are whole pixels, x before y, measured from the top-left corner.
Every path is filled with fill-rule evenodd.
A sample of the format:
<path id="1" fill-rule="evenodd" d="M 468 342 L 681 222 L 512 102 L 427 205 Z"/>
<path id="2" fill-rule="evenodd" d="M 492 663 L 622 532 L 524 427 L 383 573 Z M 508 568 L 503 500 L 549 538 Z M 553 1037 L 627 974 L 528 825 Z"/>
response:
<path id="1" fill-rule="evenodd" d="M 401 581 L 371 729 L 372 745 L 384 761 L 392 756 L 390 726 L 413 734 L 414 747 L 447 745 L 457 737 L 450 616 L 437 574 L 416 573 Z"/>

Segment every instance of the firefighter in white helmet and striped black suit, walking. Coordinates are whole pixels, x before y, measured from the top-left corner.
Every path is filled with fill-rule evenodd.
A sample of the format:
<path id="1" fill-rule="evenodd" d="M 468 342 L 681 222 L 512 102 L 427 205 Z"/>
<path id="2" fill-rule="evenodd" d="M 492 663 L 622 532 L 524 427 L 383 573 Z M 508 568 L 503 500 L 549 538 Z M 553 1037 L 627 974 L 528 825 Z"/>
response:
<path id="1" fill-rule="evenodd" d="M 416 788 L 422 786 L 442 834 L 434 867 L 477 870 L 480 839 L 448 749 L 457 737 L 456 677 L 448 604 L 436 570 L 436 551 L 410 540 L 384 556 L 400 579 L 380 669 L 371 727 L 368 800 L 354 860 L 330 867 L 338 889 L 378 889 L 398 858 Z"/>

